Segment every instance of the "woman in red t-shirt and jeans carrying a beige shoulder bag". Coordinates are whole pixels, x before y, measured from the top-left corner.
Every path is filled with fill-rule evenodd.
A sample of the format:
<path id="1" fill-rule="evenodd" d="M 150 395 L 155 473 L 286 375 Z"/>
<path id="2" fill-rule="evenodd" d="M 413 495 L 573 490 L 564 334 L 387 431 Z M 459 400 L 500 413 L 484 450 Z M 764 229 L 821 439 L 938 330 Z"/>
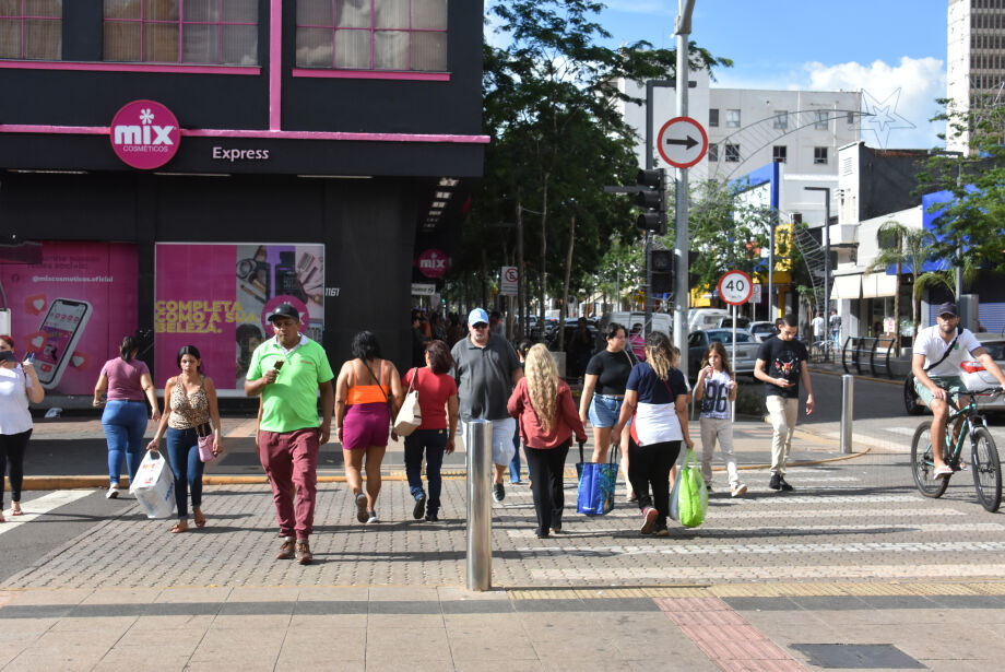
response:
<path id="1" fill-rule="evenodd" d="M 425 357 L 426 366 L 409 370 L 402 380 L 402 388 L 414 387 L 418 391 L 418 408 L 423 415 L 423 423 L 405 437 L 405 474 L 409 476 L 409 490 L 415 497 L 412 517 L 419 520 L 425 515 L 426 520 L 435 522 L 439 520 L 440 465 L 444 453 L 453 452 L 453 435 L 457 433 L 457 381 L 449 374 L 453 368 L 453 357 L 446 343 L 429 341 Z M 428 499 L 423 490 L 423 452 L 426 453 Z"/>

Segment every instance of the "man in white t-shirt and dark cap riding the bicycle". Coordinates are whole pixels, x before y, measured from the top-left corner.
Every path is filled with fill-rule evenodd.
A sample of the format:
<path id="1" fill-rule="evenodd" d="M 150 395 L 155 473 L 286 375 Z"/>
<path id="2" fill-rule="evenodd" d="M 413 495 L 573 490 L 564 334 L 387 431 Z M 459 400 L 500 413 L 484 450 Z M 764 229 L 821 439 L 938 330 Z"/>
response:
<path id="1" fill-rule="evenodd" d="M 959 376 L 960 364 L 967 353 L 977 357 L 984 369 L 1005 387 L 1005 374 L 994 363 L 988 351 L 969 329 L 960 329 L 956 304 L 948 302 L 938 307 L 937 322 L 918 332 L 911 356 L 914 390 L 932 409 L 932 446 L 946 445 L 946 424 L 949 417 L 949 394 L 958 394 L 957 408 L 970 403 L 968 390 Z M 932 450 L 935 478 L 953 473 L 942 450 Z M 965 469 L 966 465 L 961 465 Z"/>

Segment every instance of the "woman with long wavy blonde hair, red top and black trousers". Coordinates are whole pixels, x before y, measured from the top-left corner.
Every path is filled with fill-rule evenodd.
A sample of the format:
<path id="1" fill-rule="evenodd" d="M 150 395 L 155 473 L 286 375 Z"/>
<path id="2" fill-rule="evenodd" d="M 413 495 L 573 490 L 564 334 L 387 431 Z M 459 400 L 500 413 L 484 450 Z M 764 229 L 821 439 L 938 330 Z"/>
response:
<path id="1" fill-rule="evenodd" d="M 565 506 L 563 475 L 565 460 L 576 440 L 586 443 L 587 431 L 579 420 L 572 392 L 558 369 L 552 353 L 541 343 L 527 353 L 525 376 L 509 398 L 509 414 L 520 422 L 527 469 L 537 512 L 537 539 L 547 539 L 548 528 L 561 531 Z"/>

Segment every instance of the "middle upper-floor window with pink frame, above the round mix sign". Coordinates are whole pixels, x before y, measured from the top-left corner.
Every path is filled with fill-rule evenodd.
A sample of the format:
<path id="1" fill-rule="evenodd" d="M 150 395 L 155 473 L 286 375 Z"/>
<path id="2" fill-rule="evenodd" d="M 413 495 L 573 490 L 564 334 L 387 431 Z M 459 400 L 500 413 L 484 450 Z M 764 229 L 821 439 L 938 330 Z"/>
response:
<path id="1" fill-rule="evenodd" d="M 104 0 L 106 61 L 258 64 L 258 0 Z"/>

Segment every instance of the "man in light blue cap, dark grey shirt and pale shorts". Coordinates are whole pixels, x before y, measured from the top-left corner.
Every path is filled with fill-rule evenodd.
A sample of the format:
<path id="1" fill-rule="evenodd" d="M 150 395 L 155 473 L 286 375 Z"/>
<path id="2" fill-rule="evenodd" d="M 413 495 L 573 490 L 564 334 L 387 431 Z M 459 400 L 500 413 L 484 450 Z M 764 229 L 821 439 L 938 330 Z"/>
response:
<path id="1" fill-rule="evenodd" d="M 509 341 L 488 332 L 488 314 L 484 308 L 471 311 L 468 328 L 468 338 L 458 341 L 450 351 L 461 420 L 464 423 L 472 420 L 492 422 L 492 461 L 495 463 L 492 497 L 503 502 L 506 497 L 503 474 L 513 458 L 517 426 L 506 402 L 513 386 L 523 377 L 523 368 Z"/>

